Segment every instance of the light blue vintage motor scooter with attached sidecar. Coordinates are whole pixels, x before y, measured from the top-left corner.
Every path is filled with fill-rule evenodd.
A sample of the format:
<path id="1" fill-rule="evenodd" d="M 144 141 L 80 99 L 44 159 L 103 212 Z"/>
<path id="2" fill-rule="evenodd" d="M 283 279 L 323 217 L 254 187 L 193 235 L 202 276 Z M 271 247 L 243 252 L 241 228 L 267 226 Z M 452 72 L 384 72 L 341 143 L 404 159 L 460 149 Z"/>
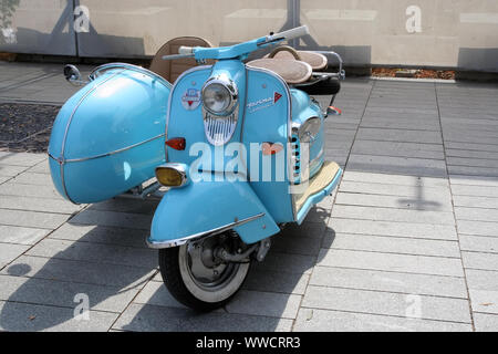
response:
<path id="1" fill-rule="evenodd" d="M 183 46 L 163 59 L 216 62 L 184 72 L 173 86 L 129 64 L 102 65 L 89 82 L 65 67 L 84 86 L 52 129 L 56 189 L 87 204 L 167 187 L 147 243 L 159 250 L 167 289 L 187 306 L 209 311 L 228 302 L 251 261 L 264 259 L 270 237 L 301 223 L 340 180 L 341 168 L 323 157 L 323 121 L 338 110 L 323 112 L 310 96 L 339 92 L 340 56 L 332 53 L 336 73 L 313 72 L 289 48 L 243 62 L 304 34 L 307 27 L 232 46 Z"/>

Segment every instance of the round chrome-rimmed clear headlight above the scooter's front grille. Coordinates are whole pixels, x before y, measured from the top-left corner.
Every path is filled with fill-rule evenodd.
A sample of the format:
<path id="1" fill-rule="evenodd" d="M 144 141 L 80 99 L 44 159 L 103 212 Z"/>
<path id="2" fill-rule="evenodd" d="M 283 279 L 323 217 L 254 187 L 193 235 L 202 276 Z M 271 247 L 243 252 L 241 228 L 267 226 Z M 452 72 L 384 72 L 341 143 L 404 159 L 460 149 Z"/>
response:
<path id="1" fill-rule="evenodd" d="M 211 77 L 203 87 L 203 105 L 214 115 L 229 115 L 237 100 L 237 86 L 226 76 Z"/>

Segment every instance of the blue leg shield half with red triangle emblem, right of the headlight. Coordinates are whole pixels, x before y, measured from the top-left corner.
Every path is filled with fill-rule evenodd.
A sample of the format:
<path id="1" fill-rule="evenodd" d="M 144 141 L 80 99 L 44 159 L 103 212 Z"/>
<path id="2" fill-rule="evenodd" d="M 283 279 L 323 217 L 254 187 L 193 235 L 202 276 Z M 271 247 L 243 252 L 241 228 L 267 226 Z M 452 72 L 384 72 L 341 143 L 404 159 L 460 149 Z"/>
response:
<path id="1" fill-rule="evenodd" d="M 250 185 L 278 223 L 293 221 L 288 176 L 291 96 L 287 84 L 269 71 L 248 67 L 245 108 L 242 143 L 248 152 Z M 270 156 L 251 149 L 251 145 L 262 143 L 281 144 L 283 149 Z M 271 176 L 266 175 L 268 166 Z"/>

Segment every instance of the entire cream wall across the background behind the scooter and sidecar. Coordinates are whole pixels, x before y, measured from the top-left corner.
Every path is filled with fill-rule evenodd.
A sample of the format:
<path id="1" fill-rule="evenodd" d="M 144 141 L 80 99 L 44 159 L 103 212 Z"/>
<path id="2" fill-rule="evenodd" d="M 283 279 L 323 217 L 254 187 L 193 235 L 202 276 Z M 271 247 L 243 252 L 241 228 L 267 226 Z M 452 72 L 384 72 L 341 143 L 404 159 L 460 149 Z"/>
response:
<path id="1" fill-rule="evenodd" d="M 497 0 L 0 0 L 0 8 L 9 2 L 19 6 L 0 51 L 146 56 L 178 35 L 218 45 L 308 24 L 311 35 L 293 44 L 335 50 L 347 65 L 498 72 Z M 90 21 L 73 14 L 77 6 Z"/>

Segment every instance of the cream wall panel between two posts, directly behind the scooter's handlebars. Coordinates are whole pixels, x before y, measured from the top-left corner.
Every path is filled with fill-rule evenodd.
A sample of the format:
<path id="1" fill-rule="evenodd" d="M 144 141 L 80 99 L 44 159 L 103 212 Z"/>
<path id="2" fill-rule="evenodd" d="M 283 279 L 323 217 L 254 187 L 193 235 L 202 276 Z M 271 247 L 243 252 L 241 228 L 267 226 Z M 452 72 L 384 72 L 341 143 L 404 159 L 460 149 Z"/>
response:
<path id="1" fill-rule="evenodd" d="M 195 35 L 214 45 L 278 31 L 286 23 L 286 0 L 198 1 L 82 0 L 91 12 L 94 33 L 81 33 L 83 55 L 131 53 L 154 55 L 175 37 Z"/>

